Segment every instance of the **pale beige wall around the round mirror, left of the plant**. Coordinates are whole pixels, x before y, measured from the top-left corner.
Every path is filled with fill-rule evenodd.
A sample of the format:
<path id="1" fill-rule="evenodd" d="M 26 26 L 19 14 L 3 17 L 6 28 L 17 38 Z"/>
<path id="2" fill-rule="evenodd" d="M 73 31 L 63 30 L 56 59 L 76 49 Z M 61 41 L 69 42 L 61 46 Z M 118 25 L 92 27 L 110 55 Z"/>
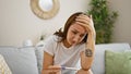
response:
<path id="1" fill-rule="evenodd" d="M 59 1 L 59 13 L 53 18 L 40 20 L 32 12 L 29 0 L 0 0 L 0 46 L 22 46 L 26 39 L 36 44 L 41 34 L 52 34 L 70 14 L 85 11 L 88 3 L 87 0 Z"/>

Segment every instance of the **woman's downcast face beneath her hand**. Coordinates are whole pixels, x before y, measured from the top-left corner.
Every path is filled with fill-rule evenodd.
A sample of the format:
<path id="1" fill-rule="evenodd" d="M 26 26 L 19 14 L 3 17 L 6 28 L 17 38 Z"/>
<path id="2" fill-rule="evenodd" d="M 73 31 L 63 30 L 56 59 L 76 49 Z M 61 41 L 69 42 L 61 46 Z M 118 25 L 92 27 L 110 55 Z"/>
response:
<path id="1" fill-rule="evenodd" d="M 68 46 L 80 44 L 84 39 L 85 35 L 86 30 L 82 25 L 76 23 L 72 24 L 67 34 Z"/>

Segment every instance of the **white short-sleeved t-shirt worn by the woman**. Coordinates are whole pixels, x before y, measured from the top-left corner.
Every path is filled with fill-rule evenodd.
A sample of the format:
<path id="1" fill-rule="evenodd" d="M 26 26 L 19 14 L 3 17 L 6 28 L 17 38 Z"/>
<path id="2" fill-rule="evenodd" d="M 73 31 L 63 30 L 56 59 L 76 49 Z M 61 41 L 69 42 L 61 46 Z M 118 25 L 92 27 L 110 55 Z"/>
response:
<path id="1" fill-rule="evenodd" d="M 53 64 L 76 67 L 80 60 L 80 52 L 85 49 L 85 44 L 67 48 L 60 41 L 60 37 L 52 35 L 45 40 L 44 51 L 53 55 Z M 62 74 L 75 74 L 72 70 L 62 70 Z"/>

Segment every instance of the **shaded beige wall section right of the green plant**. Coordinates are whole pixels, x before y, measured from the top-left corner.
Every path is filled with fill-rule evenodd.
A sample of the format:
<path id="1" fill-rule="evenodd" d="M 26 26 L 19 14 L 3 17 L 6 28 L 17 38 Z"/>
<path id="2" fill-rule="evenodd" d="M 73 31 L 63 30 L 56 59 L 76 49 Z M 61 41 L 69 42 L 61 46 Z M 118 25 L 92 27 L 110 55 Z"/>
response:
<path id="1" fill-rule="evenodd" d="M 118 10 L 119 17 L 115 24 L 112 40 L 131 45 L 131 0 L 109 0 L 114 10 Z"/>

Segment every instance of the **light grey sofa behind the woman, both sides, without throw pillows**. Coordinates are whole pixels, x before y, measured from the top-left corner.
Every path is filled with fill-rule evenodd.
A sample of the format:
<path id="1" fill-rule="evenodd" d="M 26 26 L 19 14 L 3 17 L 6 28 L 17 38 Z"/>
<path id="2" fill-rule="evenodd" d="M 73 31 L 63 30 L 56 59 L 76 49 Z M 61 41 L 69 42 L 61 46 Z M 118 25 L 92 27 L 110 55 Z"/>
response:
<path id="1" fill-rule="evenodd" d="M 43 67 L 43 47 L 12 47 L 0 46 L 0 54 L 3 55 L 12 74 L 40 74 Z M 130 50 L 130 45 L 121 44 L 100 44 L 95 47 L 95 58 L 92 65 L 94 74 L 105 74 L 105 51 L 126 51 Z"/>

